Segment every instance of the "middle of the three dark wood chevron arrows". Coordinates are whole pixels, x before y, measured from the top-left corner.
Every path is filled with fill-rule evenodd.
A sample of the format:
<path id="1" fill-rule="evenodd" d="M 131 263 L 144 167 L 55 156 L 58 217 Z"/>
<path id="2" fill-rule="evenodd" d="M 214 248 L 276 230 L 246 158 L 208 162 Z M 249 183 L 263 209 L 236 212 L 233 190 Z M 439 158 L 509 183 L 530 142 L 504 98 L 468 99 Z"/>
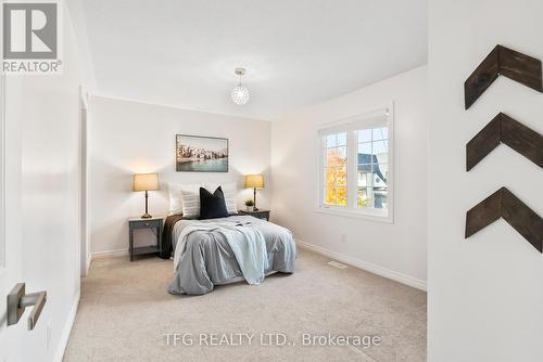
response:
<path id="1" fill-rule="evenodd" d="M 500 113 L 466 145 L 466 169 L 469 171 L 502 143 L 543 168 L 543 135 Z"/>

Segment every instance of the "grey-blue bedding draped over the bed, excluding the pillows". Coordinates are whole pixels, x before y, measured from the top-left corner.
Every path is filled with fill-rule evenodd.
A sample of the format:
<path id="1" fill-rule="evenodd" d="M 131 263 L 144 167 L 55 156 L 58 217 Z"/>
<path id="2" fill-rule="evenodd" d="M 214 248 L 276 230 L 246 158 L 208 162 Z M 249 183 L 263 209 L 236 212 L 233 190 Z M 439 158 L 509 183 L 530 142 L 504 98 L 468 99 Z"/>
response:
<path id="1" fill-rule="evenodd" d="M 215 285 L 247 279 L 242 273 L 242 269 L 247 269 L 240 268 L 236 258 L 238 254 L 235 251 L 238 250 L 230 247 L 237 244 L 231 244 L 230 234 L 214 229 L 218 225 L 237 228 L 263 236 L 265 253 L 262 254 L 267 258 L 265 275 L 294 272 L 296 248 L 292 233 L 286 228 L 252 216 L 232 215 L 209 220 L 171 216 L 166 220 L 164 253 L 161 255 L 173 256 L 175 260 L 174 281 L 168 287 L 171 294 L 202 295 L 212 292 Z M 187 228 L 192 231 L 188 235 Z M 247 260 L 242 262 L 245 267 Z"/>

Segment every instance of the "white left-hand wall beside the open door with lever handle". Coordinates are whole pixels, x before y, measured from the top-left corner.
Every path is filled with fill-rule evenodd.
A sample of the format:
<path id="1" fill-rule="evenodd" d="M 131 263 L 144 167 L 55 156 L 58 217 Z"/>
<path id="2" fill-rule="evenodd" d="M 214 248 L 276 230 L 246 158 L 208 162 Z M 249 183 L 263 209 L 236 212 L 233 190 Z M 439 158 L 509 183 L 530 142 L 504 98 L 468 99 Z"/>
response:
<path id="1" fill-rule="evenodd" d="M 61 360 L 79 298 L 79 85 L 84 78 L 67 13 L 63 20 L 64 73 L 13 76 L 8 85 L 11 91 L 10 86 L 17 82 L 21 98 L 22 282 L 27 293 L 48 293 L 36 328 L 23 334 L 24 361 Z M 25 324 L 26 316 L 20 323 Z"/>

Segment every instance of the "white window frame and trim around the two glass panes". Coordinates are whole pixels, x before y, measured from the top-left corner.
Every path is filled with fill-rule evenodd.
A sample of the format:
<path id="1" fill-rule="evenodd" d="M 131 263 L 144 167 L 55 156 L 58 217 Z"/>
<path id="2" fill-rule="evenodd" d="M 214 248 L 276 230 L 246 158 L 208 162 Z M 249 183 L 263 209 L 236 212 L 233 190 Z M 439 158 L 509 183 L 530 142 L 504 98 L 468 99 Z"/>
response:
<path id="1" fill-rule="evenodd" d="M 386 117 L 389 135 L 388 165 L 389 173 L 387 178 L 388 195 L 387 209 L 357 208 L 357 139 L 354 130 L 382 127 L 382 118 Z M 323 132 L 348 132 L 348 206 L 327 205 L 324 203 L 325 180 L 324 168 L 326 160 L 326 146 L 324 144 Z M 316 212 L 336 216 L 346 216 L 362 218 L 387 223 L 394 222 L 394 104 L 377 107 L 353 117 L 343 118 L 332 122 L 320 125 L 317 129 L 317 190 L 316 190 Z M 353 144 L 356 144 L 353 146 Z M 355 185 L 353 188 L 353 185 Z"/>

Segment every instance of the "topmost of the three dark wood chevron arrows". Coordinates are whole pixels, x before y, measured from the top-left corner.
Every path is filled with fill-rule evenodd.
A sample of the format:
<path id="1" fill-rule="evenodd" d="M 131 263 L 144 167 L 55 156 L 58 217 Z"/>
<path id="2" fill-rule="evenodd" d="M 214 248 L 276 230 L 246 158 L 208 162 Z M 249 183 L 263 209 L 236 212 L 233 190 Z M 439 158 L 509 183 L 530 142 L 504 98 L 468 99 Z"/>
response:
<path id="1" fill-rule="evenodd" d="M 541 61 L 503 46 L 496 46 L 464 82 L 466 109 L 501 75 L 543 92 Z"/>

